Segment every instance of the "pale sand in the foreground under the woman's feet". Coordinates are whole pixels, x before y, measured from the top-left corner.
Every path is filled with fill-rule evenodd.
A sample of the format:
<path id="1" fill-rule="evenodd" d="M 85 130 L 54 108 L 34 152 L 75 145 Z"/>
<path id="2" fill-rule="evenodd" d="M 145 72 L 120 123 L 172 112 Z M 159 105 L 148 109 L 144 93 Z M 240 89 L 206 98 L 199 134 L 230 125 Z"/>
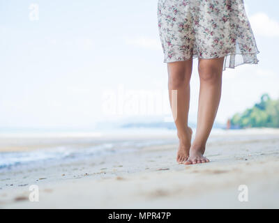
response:
<path id="1" fill-rule="evenodd" d="M 177 164 L 177 144 L 163 144 L 10 169 L 0 173 L 0 208 L 279 208 L 279 132 L 254 133 L 212 136 L 206 164 Z"/>

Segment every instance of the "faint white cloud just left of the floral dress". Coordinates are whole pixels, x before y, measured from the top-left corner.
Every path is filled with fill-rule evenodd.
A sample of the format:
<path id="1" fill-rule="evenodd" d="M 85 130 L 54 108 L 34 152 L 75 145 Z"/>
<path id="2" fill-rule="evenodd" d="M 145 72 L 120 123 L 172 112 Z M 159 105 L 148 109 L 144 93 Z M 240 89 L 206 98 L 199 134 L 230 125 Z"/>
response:
<path id="1" fill-rule="evenodd" d="M 137 38 L 126 38 L 126 44 L 134 45 L 137 47 L 143 47 L 146 49 L 161 49 L 161 44 L 159 39 L 148 38 L 148 37 L 137 37 Z"/>

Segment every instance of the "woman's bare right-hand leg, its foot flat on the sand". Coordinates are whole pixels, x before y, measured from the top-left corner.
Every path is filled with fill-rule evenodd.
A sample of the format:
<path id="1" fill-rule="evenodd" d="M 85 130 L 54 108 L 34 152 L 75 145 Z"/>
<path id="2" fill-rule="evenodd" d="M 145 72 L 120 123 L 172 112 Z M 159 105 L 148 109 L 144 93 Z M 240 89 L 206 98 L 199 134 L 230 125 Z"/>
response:
<path id="1" fill-rule="evenodd" d="M 186 164 L 209 162 L 203 155 L 220 103 L 223 63 L 224 57 L 199 59 L 200 88 L 197 132 Z"/>

